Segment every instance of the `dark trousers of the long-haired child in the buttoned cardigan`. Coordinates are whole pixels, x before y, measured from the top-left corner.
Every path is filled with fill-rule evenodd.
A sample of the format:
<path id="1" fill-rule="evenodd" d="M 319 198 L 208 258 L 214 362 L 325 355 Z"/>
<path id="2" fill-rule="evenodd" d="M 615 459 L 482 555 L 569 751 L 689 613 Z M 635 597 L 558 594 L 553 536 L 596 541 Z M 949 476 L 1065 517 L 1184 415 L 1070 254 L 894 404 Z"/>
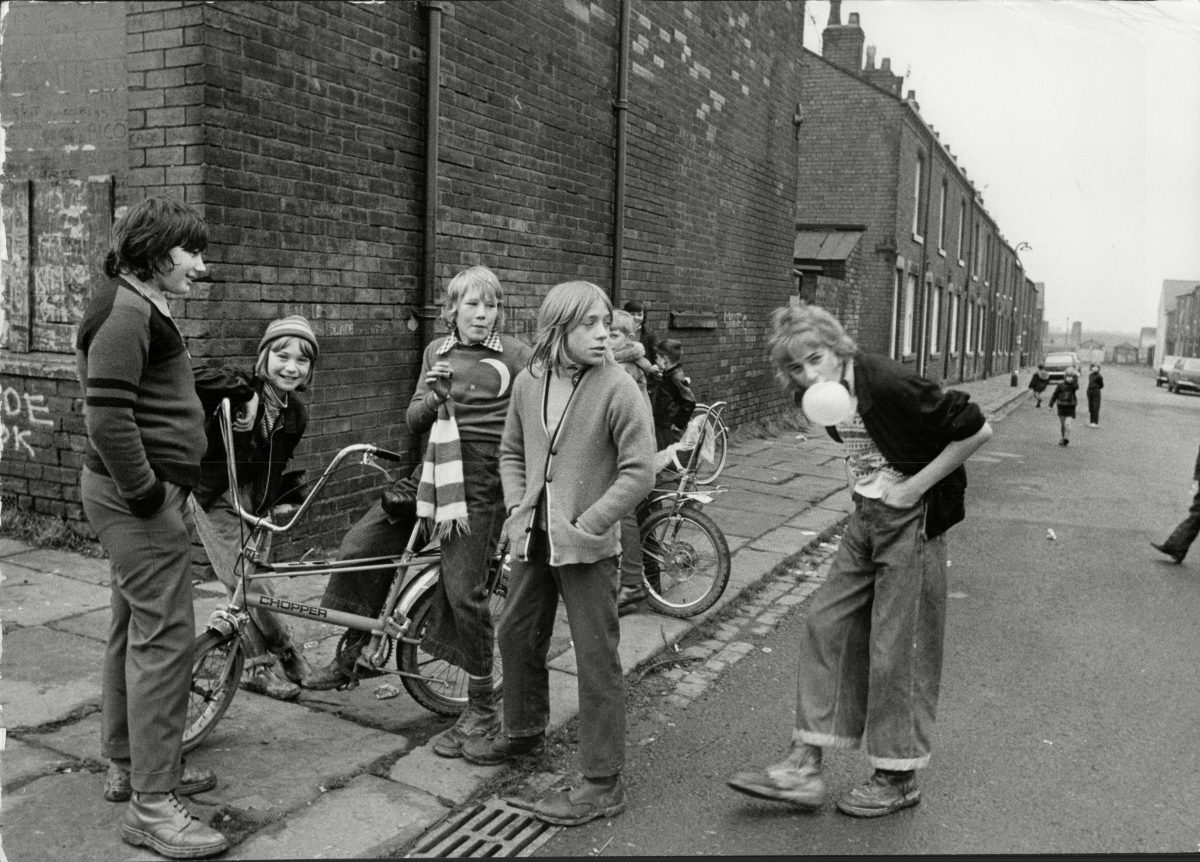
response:
<path id="1" fill-rule="evenodd" d="M 586 778 L 616 776 L 625 764 L 625 680 L 617 652 L 617 557 L 551 565 L 545 531 L 534 529 L 530 538 L 529 559 L 512 561 L 499 627 L 504 731 L 509 736 L 534 736 L 550 723 L 546 656 L 562 595 L 578 669 L 580 771 Z"/>

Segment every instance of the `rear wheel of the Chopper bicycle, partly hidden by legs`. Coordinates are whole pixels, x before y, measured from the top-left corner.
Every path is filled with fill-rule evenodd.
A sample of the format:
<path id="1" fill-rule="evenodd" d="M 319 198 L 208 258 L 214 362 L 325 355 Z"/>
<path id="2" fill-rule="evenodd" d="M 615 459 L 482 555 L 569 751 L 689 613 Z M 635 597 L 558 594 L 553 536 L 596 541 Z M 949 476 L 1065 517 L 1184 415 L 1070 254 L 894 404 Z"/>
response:
<path id="1" fill-rule="evenodd" d="M 496 579 L 496 585 L 492 589 L 491 607 L 492 622 L 498 627 L 500 615 L 504 611 L 508 581 L 500 576 Z M 404 689 L 413 700 L 439 716 L 457 716 L 467 708 L 467 682 L 470 678 L 467 671 L 445 659 L 428 654 L 419 642 L 410 643 L 408 640 L 425 640 L 432 612 L 433 586 L 413 603 L 407 639 L 401 641 L 400 650 L 396 651 L 396 666 L 406 674 L 418 675 L 401 677 Z M 496 693 L 499 694 L 504 683 L 504 666 L 500 663 L 499 643 L 494 639 L 492 642 L 492 683 Z"/>

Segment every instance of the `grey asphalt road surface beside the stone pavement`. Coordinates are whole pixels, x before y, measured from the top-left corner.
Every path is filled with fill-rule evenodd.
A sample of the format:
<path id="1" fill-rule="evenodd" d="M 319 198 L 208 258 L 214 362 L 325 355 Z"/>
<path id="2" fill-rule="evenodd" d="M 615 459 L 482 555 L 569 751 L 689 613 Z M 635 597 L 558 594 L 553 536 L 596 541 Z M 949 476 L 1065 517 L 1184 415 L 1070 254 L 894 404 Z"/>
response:
<path id="1" fill-rule="evenodd" d="M 1148 541 L 1189 503 L 1200 396 L 1156 389 L 1148 369 L 1104 372 L 1102 427 L 1081 408 L 1062 448 L 1057 419 L 1028 403 L 970 467 L 919 806 L 864 821 L 832 801 L 803 814 L 725 786 L 786 748 L 802 605 L 742 633 L 754 648 L 688 708 L 641 710 L 629 810 L 538 855 L 1196 851 L 1200 549 L 1177 567 Z M 826 764 L 832 794 L 869 774 L 858 752 Z"/>

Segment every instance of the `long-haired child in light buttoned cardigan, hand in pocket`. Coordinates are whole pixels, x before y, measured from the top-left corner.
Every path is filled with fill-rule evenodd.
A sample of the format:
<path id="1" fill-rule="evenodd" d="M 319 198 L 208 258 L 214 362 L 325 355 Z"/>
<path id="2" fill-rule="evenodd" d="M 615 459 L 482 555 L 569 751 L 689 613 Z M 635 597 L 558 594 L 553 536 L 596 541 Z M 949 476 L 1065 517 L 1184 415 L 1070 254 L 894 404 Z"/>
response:
<path id="1" fill-rule="evenodd" d="M 533 814 L 577 826 L 625 810 L 625 683 L 617 645 L 620 521 L 654 485 L 649 415 L 607 349 L 612 305 L 586 281 L 554 286 L 538 312 L 529 367 L 512 384 L 500 477 L 514 556 L 500 622 L 504 730 L 463 756 L 494 765 L 541 748 L 550 722 L 546 656 L 559 597 L 576 651 L 583 780 Z"/>

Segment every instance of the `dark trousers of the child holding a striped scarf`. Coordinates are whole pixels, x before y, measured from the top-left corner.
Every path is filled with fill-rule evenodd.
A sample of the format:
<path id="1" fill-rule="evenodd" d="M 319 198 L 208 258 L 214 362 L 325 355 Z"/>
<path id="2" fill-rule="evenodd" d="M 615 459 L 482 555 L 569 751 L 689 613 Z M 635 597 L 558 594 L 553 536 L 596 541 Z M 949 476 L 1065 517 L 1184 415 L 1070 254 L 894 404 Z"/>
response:
<path id="1" fill-rule="evenodd" d="M 499 443 L 462 441 L 461 448 L 470 531 L 442 540 L 442 577 L 433 588 L 421 650 L 473 676 L 486 676 L 492 672 L 496 640 L 487 568 L 504 526 Z"/>

